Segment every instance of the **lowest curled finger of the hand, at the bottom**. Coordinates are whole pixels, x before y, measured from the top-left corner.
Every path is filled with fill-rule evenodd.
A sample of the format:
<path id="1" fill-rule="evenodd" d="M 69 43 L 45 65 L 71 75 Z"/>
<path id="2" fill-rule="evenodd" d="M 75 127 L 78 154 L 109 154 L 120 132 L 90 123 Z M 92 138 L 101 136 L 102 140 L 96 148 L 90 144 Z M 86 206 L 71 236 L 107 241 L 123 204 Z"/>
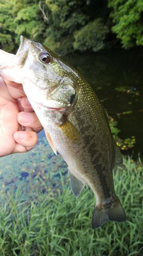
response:
<path id="1" fill-rule="evenodd" d="M 26 152 L 32 150 L 38 141 L 37 133 L 33 131 L 19 131 L 13 134 L 14 140 L 17 142 L 14 153 Z"/>

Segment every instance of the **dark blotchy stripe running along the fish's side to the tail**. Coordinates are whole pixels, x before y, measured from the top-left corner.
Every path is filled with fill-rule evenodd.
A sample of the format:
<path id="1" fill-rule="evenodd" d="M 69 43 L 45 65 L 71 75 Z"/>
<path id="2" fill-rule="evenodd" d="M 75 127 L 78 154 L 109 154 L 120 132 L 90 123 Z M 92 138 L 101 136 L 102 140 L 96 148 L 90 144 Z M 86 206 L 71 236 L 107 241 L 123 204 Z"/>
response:
<path id="1" fill-rule="evenodd" d="M 103 107 L 101 106 L 101 110 L 102 108 Z M 111 157 L 112 157 L 113 147 L 112 145 L 111 146 L 109 145 L 109 149 L 107 150 L 106 146 L 104 145 L 103 152 L 102 152 L 101 151 L 102 143 L 100 142 L 102 138 L 100 137 L 98 124 L 94 122 L 92 116 L 89 115 L 90 113 L 84 113 L 87 119 L 85 120 L 83 118 L 83 113 L 82 113 L 83 109 L 81 111 L 80 102 L 78 103 L 78 105 L 76 105 L 75 111 L 76 111 L 76 115 L 75 115 L 76 122 L 80 124 L 80 132 L 83 134 L 82 135 L 84 139 L 83 150 L 84 148 L 87 148 L 88 153 L 91 156 L 90 157 L 91 163 L 93 164 L 95 169 L 95 172 L 90 172 L 90 179 L 97 180 L 98 178 L 105 198 L 110 198 L 111 194 L 112 195 L 115 194 L 113 189 L 113 180 L 111 177 L 112 175 L 111 174 L 112 172 Z M 105 111 L 102 111 L 102 114 L 105 116 L 106 115 Z M 107 117 L 106 117 L 106 121 L 107 121 Z M 109 127 L 108 124 L 107 124 L 107 127 Z M 101 130 L 101 127 L 100 127 L 100 130 Z M 104 134 L 102 135 L 102 137 L 103 136 Z M 110 142 L 107 142 L 107 143 L 109 144 Z M 109 156 L 111 155 L 110 159 L 107 159 L 108 154 Z M 109 166 L 105 165 L 106 162 L 109 162 Z M 108 170 L 110 171 L 110 174 L 108 173 Z M 89 171 L 87 173 L 89 173 Z"/>

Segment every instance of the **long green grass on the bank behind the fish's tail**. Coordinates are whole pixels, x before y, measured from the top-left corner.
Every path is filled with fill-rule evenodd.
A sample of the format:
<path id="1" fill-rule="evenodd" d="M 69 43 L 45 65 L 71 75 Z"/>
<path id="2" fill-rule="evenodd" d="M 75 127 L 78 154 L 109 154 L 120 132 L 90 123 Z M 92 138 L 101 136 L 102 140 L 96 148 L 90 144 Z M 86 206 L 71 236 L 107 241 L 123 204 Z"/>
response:
<path id="1" fill-rule="evenodd" d="M 20 202 L 3 195 L 0 208 L 0 255 L 137 255 L 143 254 L 143 166 L 141 161 L 124 161 L 114 181 L 127 215 L 124 223 L 106 222 L 92 230 L 95 205 L 86 187 L 76 199 L 63 184 L 62 193 L 35 191 L 35 200 Z M 48 175 L 48 174 L 47 174 Z M 41 182 L 43 182 L 41 180 Z M 63 183 L 63 182 L 62 182 Z"/>

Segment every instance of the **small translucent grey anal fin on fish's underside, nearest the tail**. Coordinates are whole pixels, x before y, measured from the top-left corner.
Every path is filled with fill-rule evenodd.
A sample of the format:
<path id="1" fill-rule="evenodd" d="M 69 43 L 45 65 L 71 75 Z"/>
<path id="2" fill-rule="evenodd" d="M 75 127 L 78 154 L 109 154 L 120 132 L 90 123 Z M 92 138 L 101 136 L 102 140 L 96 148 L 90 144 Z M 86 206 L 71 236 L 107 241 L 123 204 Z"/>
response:
<path id="1" fill-rule="evenodd" d="M 70 173 L 70 187 L 72 190 L 72 193 L 78 197 L 81 190 L 84 187 L 84 183 L 81 180 L 78 180 L 73 174 Z"/>

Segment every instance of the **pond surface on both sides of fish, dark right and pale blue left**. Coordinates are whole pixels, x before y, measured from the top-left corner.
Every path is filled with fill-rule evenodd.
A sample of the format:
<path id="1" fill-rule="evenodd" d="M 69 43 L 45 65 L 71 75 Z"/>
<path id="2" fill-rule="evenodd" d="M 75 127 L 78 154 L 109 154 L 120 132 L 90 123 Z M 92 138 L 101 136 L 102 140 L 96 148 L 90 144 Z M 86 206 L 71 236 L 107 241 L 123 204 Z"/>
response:
<path id="1" fill-rule="evenodd" d="M 140 152 L 143 156 L 142 56 L 143 51 L 140 49 L 73 54 L 65 59 L 91 83 L 109 115 L 117 118 L 121 130 L 120 137 L 135 135 L 137 143 L 134 152 Z M 136 95 L 127 90 L 120 92 L 119 88 L 123 87 L 138 93 Z M 129 111 L 130 114 L 122 115 L 123 112 Z M 67 165 L 60 155 L 54 155 L 44 131 L 39 134 L 39 138 L 38 145 L 31 152 L 1 158 L 1 194 L 19 188 L 22 198 L 27 199 L 34 197 L 36 189 L 44 192 L 51 186 L 59 186 L 59 170 L 65 175 Z M 51 179 L 47 180 L 47 172 L 51 172 Z M 46 188 L 42 180 L 46 181 Z"/>

